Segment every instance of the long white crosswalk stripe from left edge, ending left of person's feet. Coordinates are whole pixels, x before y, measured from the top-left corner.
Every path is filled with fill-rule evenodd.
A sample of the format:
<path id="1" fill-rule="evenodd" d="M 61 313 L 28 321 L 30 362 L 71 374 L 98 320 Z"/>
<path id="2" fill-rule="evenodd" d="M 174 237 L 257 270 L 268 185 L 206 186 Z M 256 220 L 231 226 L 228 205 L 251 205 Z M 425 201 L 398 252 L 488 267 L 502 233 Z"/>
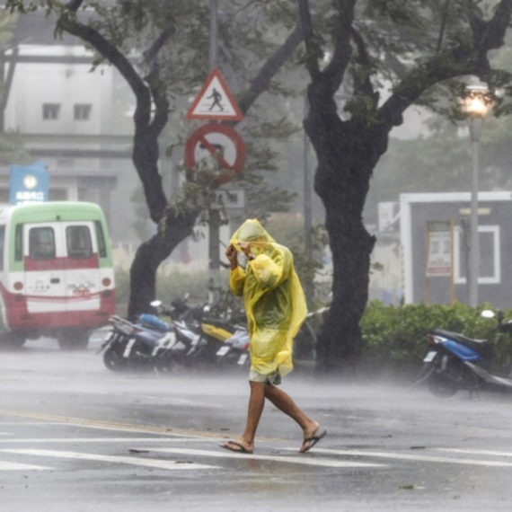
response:
<path id="1" fill-rule="evenodd" d="M 162 461 L 157 459 L 146 459 L 138 457 L 122 457 L 116 455 L 94 455 L 94 454 L 81 454 L 78 452 L 60 452 L 56 450 L 36 450 L 36 449 L 20 449 L 20 450 L 6 450 L 2 449 L 0 452 L 20 455 L 38 455 L 42 457 L 59 457 L 66 459 L 76 459 L 85 461 L 98 461 L 103 463 L 120 463 L 130 464 L 136 466 L 146 466 L 150 468 L 166 469 L 166 470 L 199 470 L 199 469 L 214 469 L 217 466 L 210 466 L 206 464 L 196 463 L 180 463 L 177 461 Z"/>

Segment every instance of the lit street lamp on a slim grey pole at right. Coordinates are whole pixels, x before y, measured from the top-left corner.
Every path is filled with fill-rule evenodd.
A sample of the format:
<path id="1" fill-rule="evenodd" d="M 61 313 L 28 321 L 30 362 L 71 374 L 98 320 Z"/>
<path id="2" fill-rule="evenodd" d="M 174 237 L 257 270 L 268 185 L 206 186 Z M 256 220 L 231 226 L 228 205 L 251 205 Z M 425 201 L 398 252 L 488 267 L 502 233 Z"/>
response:
<path id="1" fill-rule="evenodd" d="M 480 240 L 478 236 L 478 175 L 479 142 L 483 119 L 490 110 L 489 89 L 485 85 L 468 85 L 463 96 L 463 112 L 466 114 L 472 140 L 472 192 L 471 192 L 471 245 L 469 269 L 469 303 L 478 305 L 478 277 L 480 270 Z"/>

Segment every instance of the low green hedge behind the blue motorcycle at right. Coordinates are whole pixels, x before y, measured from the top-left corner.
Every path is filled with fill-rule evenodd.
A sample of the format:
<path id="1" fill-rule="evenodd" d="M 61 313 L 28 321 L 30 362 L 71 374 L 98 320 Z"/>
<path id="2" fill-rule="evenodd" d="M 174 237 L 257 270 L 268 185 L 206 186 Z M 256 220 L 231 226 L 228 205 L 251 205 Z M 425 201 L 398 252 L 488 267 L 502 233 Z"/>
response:
<path id="1" fill-rule="evenodd" d="M 512 342 L 508 334 L 492 331 L 497 320 L 483 318 L 484 309 L 493 308 L 463 304 L 387 306 L 372 302 L 360 322 L 360 370 L 365 375 L 414 378 L 428 352 L 428 332 L 443 329 L 476 340 L 490 340 L 497 356 L 494 369 L 502 371 L 510 363 Z M 512 317 L 512 312 L 504 313 L 505 318 Z"/>

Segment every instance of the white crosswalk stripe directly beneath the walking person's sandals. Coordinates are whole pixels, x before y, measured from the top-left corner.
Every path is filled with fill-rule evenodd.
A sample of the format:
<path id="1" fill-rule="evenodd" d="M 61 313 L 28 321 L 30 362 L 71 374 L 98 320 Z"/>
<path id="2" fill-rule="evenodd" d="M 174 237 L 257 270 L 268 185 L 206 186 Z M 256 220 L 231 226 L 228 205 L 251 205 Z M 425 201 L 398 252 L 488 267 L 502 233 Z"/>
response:
<path id="1" fill-rule="evenodd" d="M 377 463 L 358 463 L 354 461 L 335 461 L 332 459 L 313 459 L 304 455 L 297 455 L 296 457 L 288 457 L 287 455 L 248 455 L 248 454 L 234 454 L 228 450 L 224 450 L 219 447 L 216 452 L 210 452 L 207 450 L 192 450 L 188 448 L 161 448 L 151 447 L 152 451 L 163 452 L 165 454 L 176 454 L 176 455 L 201 455 L 205 457 L 220 457 L 220 458 L 237 458 L 239 460 L 250 459 L 259 461 L 272 461 L 276 463 L 292 463 L 292 464 L 305 464 L 310 466 L 324 466 L 332 468 L 349 467 L 349 468 L 361 468 L 361 467 L 387 467 L 386 464 Z M 221 451 L 222 450 L 222 451 Z"/>

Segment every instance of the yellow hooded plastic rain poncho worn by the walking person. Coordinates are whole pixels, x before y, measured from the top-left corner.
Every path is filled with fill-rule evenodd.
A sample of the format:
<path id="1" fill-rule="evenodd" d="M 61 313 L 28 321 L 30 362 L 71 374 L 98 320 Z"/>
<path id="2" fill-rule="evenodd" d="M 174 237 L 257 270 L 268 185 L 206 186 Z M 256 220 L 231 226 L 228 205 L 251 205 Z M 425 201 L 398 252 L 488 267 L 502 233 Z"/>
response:
<path id="1" fill-rule="evenodd" d="M 247 269 L 231 271 L 230 287 L 243 296 L 251 339 L 251 370 L 269 375 L 293 369 L 293 340 L 305 320 L 305 295 L 297 278 L 292 253 L 279 245 L 256 219 L 246 220 L 231 242 L 251 243 L 256 256 Z"/>

